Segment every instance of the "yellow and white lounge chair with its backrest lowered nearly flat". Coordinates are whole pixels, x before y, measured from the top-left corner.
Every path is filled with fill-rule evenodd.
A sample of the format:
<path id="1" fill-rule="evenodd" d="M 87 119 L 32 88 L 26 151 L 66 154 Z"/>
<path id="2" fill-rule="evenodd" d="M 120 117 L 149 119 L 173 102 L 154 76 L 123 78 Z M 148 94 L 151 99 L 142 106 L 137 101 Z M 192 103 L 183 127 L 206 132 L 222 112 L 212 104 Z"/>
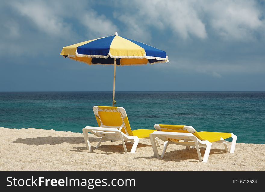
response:
<path id="1" fill-rule="evenodd" d="M 226 149 L 226 152 L 229 152 L 225 139 L 232 137 L 232 145 L 230 153 L 235 151 L 235 143 L 237 136 L 232 133 L 219 133 L 219 132 L 207 132 L 200 131 L 197 132 L 192 126 L 186 125 L 164 125 L 164 124 L 155 124 L 154 128 L 157 131 L 154 131 L 150 134 L 151 144 L 154 151 L 154 156 L 158 158 L 157 147 L 154 143 L 154 139 L 160 138 L 164 142 L 164 150 L 162 152 L 161 158 L 164 157 L 169 144 L 184 145 L 186 149 L 190 150 L 190 146 L 196 150 L 200 162 L 207 163 L 209 153 L 211 150 L 212 143 L 223 143 Z M 183 141 L 180 141 L 183 140 Z M 191 142 L 189 142 L 191 141 Z M 201 158 L 201 152 L 199 146 L 206 146 L 203 160 Z"/>

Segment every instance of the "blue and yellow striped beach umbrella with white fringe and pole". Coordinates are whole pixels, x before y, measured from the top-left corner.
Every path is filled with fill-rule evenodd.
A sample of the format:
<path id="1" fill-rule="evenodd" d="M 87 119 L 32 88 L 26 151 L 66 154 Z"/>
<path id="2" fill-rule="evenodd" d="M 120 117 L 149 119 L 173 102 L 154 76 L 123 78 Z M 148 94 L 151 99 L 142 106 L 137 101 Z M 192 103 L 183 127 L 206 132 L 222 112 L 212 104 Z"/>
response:
<path id="1" fill-rule="evenodd" d="M 169 62 L 166 52 L 144 43 L 118 36 L 101 37 L 63 47 L 61 54 L 88 65 L 114 65 L 112 106 L 115 105 L 116 65 L 146 65 Z"/>

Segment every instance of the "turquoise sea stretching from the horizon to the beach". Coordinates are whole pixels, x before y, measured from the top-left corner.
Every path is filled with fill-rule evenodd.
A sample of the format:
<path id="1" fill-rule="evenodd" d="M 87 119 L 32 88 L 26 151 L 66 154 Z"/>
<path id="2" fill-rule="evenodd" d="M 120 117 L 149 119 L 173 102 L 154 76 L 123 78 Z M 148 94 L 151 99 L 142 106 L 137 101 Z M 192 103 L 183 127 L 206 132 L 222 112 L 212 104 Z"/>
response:
<path id="1" fill-rule="evenodd" d="M 132 129 L 182 124 L 265 143 L 265 92 L 117 92 L 115 99 Z M 81 133 L 97 126 L 92 107 L 111 100 L 111 92 L 0 92 L 0 127 Z"/>

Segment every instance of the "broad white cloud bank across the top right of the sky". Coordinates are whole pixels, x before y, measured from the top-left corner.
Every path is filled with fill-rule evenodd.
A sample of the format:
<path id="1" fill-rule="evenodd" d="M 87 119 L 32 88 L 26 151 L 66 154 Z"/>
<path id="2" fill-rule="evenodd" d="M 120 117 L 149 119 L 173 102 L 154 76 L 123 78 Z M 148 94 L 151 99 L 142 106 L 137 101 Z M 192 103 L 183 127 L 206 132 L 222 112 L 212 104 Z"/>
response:
<path id="1" fill-rule="evenodd" d="M 249 41 L 265 29 L 264 10 L 254 0 L 134 0 L 117 3 L 115 9 L 114 17 L 139 36 L 153 27 L 181 39 L 206 39 L 213 30 L 222 39 Z"/>

